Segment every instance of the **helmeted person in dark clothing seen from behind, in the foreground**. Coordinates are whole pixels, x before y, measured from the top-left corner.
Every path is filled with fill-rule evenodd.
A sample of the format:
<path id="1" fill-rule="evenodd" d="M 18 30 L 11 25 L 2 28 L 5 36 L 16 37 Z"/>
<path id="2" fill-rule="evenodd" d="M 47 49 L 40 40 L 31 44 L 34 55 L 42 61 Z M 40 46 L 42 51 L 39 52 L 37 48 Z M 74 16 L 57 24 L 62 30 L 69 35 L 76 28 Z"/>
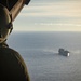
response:
<path id="1" fill-rule="evenodd" d="M 29 81 L 22 56 L 5 44 L 12 29 L 12 15 L 0 4 L 0 81 Z"/>

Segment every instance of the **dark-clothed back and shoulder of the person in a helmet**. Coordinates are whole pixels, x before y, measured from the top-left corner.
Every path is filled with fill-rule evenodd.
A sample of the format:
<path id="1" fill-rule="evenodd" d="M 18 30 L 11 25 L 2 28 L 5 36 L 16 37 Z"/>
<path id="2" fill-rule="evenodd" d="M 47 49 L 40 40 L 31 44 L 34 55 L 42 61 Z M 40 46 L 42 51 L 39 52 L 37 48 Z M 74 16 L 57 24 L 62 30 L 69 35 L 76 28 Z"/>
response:
<path id="1" fill-rule="evenodd" d="M 0 81 L 29 81 L 22 56 L 5 44 L 0 44 Z"/>

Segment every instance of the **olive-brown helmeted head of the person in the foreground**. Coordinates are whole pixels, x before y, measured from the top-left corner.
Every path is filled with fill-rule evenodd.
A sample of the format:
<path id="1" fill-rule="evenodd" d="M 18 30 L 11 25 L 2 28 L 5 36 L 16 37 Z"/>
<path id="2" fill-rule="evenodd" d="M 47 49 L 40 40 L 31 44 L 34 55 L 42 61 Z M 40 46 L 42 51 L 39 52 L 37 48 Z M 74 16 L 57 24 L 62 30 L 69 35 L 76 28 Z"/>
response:
<path id="1" fill-rule="evenodd" d="M 12 30 L 12 17 L 9 10 L 0 4 L 0 43 L 4 42 Z"/>

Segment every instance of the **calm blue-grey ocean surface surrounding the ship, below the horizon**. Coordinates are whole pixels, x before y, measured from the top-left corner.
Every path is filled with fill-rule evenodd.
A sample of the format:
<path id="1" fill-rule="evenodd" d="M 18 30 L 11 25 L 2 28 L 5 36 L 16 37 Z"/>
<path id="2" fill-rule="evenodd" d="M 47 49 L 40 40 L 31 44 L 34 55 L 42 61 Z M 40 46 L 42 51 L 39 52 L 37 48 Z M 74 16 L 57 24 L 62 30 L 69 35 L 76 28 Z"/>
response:
<path id="1" fill-rule="evenodd" d="M 12 32 L 8 44 L 23 56 L 30 81 L 81 81 L 81 32 Z"/>

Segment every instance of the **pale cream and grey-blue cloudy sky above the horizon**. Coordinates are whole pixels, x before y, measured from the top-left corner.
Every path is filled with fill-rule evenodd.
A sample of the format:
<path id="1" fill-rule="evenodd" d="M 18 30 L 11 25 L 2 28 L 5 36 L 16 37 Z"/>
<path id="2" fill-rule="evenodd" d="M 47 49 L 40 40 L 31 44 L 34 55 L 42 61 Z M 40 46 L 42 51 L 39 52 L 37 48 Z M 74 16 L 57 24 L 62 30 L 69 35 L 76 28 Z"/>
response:
<path id="1" fill-rule="evenodd" d="M 31 0 L 13 26 L 16 31 L 81 31 L 81 0 Z"/>

